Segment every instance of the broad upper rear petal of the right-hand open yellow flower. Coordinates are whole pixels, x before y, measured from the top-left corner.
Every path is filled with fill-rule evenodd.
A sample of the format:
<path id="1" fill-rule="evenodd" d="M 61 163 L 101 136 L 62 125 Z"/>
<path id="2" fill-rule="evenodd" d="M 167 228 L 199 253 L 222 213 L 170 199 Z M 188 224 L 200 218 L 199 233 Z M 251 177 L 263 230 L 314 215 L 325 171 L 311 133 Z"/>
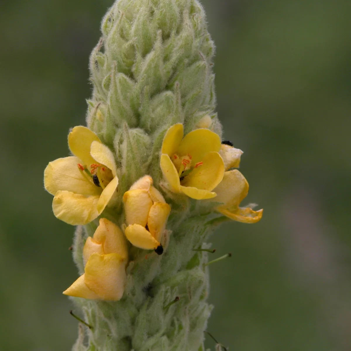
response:
<path id="1" fill-rule="evenodd" d="M 208 152 L 218 152 L 220 146 L 221 141 L 216 133 L 200 128 L 185 135 L 178 147 L 177 154 L 179 156 L 191 155 L 192 164 L 196 164 L 202 161 Z"/>

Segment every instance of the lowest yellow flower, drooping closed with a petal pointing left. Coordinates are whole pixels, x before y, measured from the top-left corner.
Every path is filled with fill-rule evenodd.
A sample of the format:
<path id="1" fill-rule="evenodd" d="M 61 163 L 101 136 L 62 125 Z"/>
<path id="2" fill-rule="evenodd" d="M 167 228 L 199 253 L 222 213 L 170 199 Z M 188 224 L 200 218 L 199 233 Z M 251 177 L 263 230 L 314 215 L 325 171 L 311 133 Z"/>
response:
<path id="1" fill-rule="evenodd" d="M 63 293 L 86 299 L 118 301 L 126 284 L 128 249 L 119 227 L 100 218 L 94 236 L 88 237 L 83 248 L 85 271 Z"/>

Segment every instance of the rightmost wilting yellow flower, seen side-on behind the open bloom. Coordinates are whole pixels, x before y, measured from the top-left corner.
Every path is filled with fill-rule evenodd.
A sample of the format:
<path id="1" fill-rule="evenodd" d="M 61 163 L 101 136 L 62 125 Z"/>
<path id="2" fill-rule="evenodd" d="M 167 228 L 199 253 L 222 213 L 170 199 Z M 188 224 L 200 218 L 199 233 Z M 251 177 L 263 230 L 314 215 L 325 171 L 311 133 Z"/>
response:
<path id="1" fill-rule="evenodd" d="M 216 210 L 225 216 L 243 223 L 256 223 L 262 218 L 263 209 L 253 211 L 250 207 L 239 207 L 249 192 L 249 183 L 238 170 L 227 171 L 229 168 L 239 166 L 240 156 L 243 153 L 232 146 L 230 141 L 224 141 L 219 151 L 224 160 L 226 172 L 223 180 L 214 189 L 217 197 L 213 201 L 223 203 L 216 207 Z"/>

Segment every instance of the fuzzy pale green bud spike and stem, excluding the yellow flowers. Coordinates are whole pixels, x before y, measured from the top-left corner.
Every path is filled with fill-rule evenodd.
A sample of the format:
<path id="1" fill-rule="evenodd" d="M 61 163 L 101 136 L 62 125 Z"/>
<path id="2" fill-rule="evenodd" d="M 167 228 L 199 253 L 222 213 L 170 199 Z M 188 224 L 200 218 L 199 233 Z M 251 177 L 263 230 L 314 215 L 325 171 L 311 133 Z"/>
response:
<path id="1" fill-rule="evenodd" d="M 189 132 L 210 116 L 210 129 L 221 133 L 214 113 L 214 43 L 205 12 L 193 0 L 116 1 L 101 31 L 90 57 L 93 95 L 87 125 L 114 150 L 122 195 L 144 174 L 160 183 L 159 153 L 173 124 L 184 123 Z M 147 252 L 133 250 L 125 297 L 115 303 L 77 299 L 94 325 L 87 333 L 96 350 L 202 347 L 211 311 L 203 268 L 207 253 L 192 249 L 202 245 L 213 226 L 206 224 L 208 208 L 197 208 L 188 198 L 174 200 L 165 253 L 145 259 Z M 122 224 L 121 201 L 115 202 L 111 216 Z M 73 245 L 75 251 L 81 250 L 88 232 L 77 230 L 75 243 L 80 245 Z M 179 301 L 167 307 L 176 297 Z M 84 350 L 81 344 L 75 347 Z"/>

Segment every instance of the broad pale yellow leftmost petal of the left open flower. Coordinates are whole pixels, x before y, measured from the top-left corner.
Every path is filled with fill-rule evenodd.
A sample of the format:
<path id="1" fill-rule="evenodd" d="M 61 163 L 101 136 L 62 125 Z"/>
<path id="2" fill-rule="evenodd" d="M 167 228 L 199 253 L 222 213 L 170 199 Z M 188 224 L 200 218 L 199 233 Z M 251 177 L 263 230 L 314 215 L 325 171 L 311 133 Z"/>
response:
<path id="1" fill-rule="evenodd" d="M 58 158 L 50 162 L 44 171 L 45 189 L 52 195 L 59 190 L 82 195 L 99 195 L 100 188 L 79 171 L 78 163 L 81 162 L 75 156 Z"/>

